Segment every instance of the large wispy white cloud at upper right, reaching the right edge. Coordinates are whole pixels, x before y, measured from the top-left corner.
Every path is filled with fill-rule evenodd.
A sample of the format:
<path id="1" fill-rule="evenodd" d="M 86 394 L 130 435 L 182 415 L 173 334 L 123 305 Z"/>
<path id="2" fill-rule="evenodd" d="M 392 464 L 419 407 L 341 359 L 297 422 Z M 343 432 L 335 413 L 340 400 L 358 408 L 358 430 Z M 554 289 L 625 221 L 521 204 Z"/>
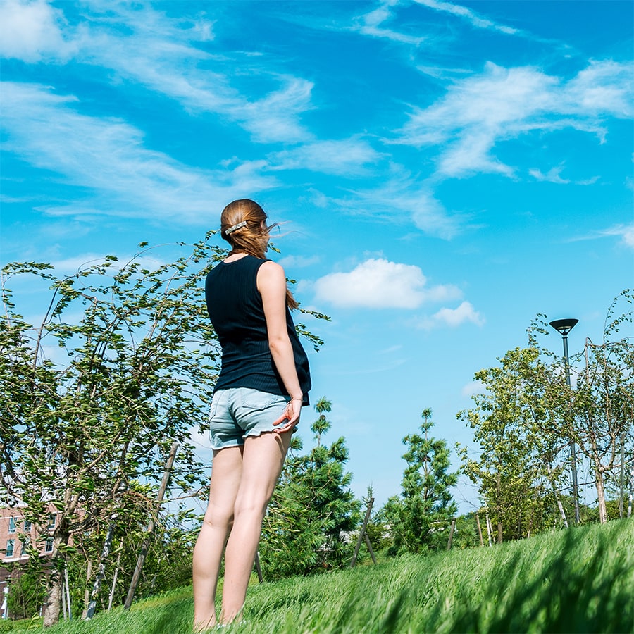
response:
<path id="1" fill-rule="evenodd" d="M 483 73 L 454 82 L 435 104 L 414 109 L 399 142 L 440 146 L 440 176 L 511 176 L 514 168 L 493 154 L 497 142 L 563 128 L 591 132 L 603 142 L 604 118 L 633 113 L 633 75 L 633 63 L 594 61 L 564 82 L 537 68 L 502 68 L 489 62 Z"/>

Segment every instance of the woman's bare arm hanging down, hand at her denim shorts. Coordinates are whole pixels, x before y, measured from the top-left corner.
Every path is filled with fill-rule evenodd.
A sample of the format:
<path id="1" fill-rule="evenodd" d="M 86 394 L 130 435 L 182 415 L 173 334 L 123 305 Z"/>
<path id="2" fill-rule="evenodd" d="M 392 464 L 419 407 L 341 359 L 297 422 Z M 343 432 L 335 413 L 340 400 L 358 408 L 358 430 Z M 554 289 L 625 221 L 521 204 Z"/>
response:
<path id="1" fill-rule="evenodd" d="M 266 261 L 258 269 L 257 287 L 262 297 L 268 347 L 273 362 L 288 395 L 291 397 L 282 417 L 275 424 L 287 420 L 278 428 L 285 432 L 297 425 L 302 411 L 302 388 L 299 387 L 293 348 L 288 336 L 286 323 L 286 275 L 277 263 Z"/>

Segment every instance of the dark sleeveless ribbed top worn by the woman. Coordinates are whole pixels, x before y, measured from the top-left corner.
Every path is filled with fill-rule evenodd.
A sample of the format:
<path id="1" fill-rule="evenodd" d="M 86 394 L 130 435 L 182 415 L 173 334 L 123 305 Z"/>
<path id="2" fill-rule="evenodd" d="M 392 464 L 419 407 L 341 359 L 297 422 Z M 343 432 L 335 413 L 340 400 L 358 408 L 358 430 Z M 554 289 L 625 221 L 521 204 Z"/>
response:
<path id="1" fill-rule="evenodd" d="M 266 318 L 257 287 L 258 270 L 264 262 L 266 260 L 247 255 L 232 262 L 220 262 L 207 275 L 207 312 L 223 351 L 214 392 L 228 387 L 251 387 L 269 394 L 287 395 L 268 347 Z M 311 389 L 308 357 L 288 308 L 286 325 L 299 387 L 307 405 Z"/>

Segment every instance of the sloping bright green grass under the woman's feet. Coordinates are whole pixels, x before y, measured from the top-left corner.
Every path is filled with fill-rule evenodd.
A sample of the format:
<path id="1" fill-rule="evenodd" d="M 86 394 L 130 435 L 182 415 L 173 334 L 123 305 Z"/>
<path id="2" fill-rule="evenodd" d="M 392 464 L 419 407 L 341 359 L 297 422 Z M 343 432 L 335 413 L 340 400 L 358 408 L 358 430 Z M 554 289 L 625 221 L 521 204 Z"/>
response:
<path id="1" fill-rule="evenodd" d="M 634 632 L 634 521 L 249 588 L 224 632 Z M 190 633 L 191 588 L 51 634 Z"/>

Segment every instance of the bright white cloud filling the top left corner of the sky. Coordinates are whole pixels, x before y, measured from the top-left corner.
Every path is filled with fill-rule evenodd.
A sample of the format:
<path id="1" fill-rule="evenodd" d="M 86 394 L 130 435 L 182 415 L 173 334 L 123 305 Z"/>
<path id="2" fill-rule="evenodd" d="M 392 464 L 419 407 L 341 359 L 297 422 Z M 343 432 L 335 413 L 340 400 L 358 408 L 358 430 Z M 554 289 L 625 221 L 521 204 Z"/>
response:
<path id="1" fill-rule="evenodd" d="M 46 0 L 4 0 L 0 4 L 0 56 L 37 62 L 65 59 L 76 45 L 63 35 L 63 13 Z"/>

